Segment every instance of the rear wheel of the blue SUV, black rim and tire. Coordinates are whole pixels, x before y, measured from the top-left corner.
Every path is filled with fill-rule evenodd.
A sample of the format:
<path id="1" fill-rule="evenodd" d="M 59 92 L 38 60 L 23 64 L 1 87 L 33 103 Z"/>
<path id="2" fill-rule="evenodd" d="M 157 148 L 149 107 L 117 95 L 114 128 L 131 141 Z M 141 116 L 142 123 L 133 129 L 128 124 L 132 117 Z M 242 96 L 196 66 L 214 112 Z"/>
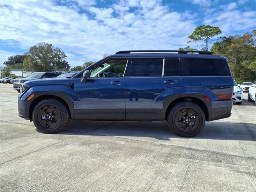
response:
<path id="1" fill-rule="evenodd" d="M 170 109 L 167 122 L 170 130 L 178 136 L 193 137 L 204 128 L 205 114 L 202 108 L 193 102 L 180 102 Z"/>

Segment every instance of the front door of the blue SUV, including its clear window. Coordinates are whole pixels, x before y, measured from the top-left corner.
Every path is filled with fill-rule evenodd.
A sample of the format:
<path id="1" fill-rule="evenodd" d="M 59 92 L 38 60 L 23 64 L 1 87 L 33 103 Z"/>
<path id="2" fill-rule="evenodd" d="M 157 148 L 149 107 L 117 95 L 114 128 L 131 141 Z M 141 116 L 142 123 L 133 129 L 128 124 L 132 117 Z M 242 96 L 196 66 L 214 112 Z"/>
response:
<path id="1" fill-rule="evenodd" d="M 74 83 L 75 118 L 125 120 L 127 77 L 126 59 L 112 59 L 91 69 L 90 78 Z"/>

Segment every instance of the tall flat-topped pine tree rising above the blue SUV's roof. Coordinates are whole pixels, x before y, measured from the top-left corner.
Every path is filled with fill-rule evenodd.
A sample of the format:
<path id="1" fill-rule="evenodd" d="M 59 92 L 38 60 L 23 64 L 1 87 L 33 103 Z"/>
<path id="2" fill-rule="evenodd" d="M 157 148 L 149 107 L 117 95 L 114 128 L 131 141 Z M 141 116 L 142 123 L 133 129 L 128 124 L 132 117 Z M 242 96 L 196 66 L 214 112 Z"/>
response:
<path id="1" fill-rule="evenodd" d="M 221 34 L 221 30 L 219 27 L 214 27 L 210 25 L 201 25 L 198 26 L 194 32 L 188 36 L 190 41 L 188 43 L 194 41 L 204 41 L 206 45 L 206 51 L 208 51 L 208 42 L 211 41 L 214 36 Z"/>

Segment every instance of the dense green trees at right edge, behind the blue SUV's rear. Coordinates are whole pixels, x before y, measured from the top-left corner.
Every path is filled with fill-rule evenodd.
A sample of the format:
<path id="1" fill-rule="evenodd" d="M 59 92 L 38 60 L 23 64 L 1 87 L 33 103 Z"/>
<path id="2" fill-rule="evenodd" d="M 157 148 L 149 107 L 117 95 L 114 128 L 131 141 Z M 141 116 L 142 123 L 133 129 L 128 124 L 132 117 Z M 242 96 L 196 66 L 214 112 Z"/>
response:
<path id="1" fill-rule="evenodd" d="M 254 81 L 256 79 L 256 30 L 243 36 L 220 38 L 211 48 L 217 55 L 228 58 L 230 70 L 235 80 Z"/>

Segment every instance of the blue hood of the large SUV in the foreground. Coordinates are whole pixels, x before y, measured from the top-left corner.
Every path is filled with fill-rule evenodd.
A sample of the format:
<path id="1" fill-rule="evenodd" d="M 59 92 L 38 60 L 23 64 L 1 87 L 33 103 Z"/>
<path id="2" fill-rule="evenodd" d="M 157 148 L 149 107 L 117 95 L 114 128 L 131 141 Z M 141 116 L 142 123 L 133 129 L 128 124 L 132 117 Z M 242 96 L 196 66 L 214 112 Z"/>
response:
<path id="1" fill-rule="evenodd" d="M 74 83 L 74 79 L 68 78 L 45 78 L 45 79 L 33 79 L 28 80 L 24 84 L 30 86 L 42 86 L 42 85 L 66 85 L 68 83 Z"/>

